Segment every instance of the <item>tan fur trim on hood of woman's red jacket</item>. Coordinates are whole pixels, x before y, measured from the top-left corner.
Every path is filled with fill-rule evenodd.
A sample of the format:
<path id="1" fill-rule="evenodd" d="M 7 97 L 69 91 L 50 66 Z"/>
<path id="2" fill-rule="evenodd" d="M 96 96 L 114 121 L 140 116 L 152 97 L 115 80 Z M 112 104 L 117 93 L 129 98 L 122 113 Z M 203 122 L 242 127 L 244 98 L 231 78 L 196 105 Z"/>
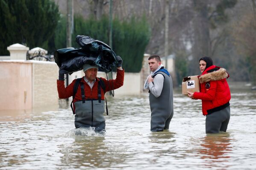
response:
<path id="1" fill-rule="evenodd" d="M 217 80 L 222 80 L 224 78 L 228 78 L 229 75 L 226 72 L 226 69 L 220 68 L 217 71 L 214 72 L 209 72 L 206 74 L 203 74 L 199 77 L 200 83 L 205 83 L 209 81 L 217 81 Z"/>

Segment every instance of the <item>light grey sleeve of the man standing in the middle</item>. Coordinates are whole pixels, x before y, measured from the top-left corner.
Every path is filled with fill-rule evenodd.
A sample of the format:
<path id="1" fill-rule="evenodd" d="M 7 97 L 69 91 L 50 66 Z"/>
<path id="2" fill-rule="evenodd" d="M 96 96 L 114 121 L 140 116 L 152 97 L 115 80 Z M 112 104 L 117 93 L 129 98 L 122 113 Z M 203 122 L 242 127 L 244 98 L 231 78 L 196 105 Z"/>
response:
<path id="1" fill-rule="evenodd" d="M 163 85 L 164 85 L 164 81 L 165 78 L 162 74 L 157 74 L 154 77 L 154 83 L 150 82 L 150 84 L 148 84 L 150 92 L 156 97 L 158 98 L 161 95 L 162 89 L 163 89 Z"/>

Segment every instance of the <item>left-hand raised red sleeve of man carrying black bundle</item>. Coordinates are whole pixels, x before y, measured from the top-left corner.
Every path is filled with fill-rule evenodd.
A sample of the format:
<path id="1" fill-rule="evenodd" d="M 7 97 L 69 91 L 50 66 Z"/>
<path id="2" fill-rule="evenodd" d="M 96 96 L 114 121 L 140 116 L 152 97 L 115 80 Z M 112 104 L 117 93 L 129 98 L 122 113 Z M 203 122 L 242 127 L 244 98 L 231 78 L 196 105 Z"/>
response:
<path id="1" fill-rule="evenodd" d="M 64 81 L 57 80 L 57 90 L 59 98 L 69 98 L 73 95 L 73 87 L 75 80 L 65 88 Z"/>

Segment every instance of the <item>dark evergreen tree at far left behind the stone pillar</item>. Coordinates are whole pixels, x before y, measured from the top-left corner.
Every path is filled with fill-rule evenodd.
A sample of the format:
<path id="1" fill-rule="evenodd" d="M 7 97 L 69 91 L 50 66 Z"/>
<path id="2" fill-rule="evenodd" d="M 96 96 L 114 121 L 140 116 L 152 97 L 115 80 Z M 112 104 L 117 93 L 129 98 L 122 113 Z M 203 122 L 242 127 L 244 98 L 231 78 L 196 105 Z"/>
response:
<path id="1" fill-rule="evenodd" d="M 48 49 L 58 20 L 58 6 L 51 0 L 0 0 L 0 55 L 8 55 L 13 43 Z"/>

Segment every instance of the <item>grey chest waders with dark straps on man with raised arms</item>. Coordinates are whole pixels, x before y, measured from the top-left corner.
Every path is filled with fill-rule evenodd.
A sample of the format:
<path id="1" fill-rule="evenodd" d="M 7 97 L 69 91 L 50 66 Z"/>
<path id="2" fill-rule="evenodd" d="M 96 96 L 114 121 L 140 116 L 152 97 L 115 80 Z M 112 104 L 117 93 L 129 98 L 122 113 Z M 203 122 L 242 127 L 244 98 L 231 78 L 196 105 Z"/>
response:
<path id="1" fill-rule="evenodd" d="M 100 79 L 98 83 L 98 98 L 97 99 L 85 99 L 84 84 L 77 80 L 74 85 L 74 95 L 76 93 L 78 85 L 81 87 L 82 101 L 74 102 L 75 111 L 72 107 L 73 113 L 75 114 L 75 127 L 95 127 L 95 131 L 105 130 L 105 117 L 103 116 L 105 101 L 101 100 L 101 88 L 104 85 Z M 77 83 L 78 82 L 78 83 Z M 76 85 L 77 84 L 77 85 Z M 105 87 L 103 86 L 103 90 Z M 74 96 L 73 95 L 73 96 Z"/>

